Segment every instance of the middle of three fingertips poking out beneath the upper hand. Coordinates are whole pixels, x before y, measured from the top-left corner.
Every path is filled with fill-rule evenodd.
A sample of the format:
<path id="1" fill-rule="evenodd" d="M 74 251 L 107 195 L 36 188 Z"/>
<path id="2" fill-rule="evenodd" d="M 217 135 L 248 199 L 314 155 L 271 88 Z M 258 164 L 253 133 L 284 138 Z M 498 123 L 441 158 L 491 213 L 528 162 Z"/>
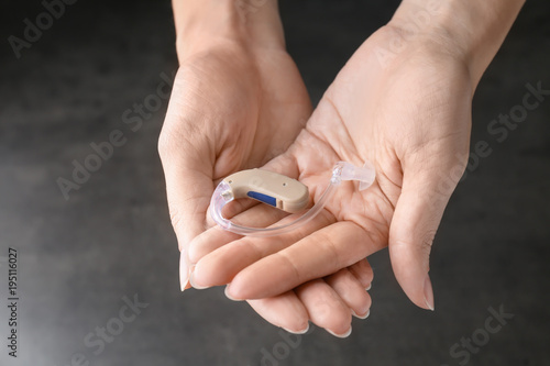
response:
<path id="1" fill-rule="evenodd" d="M 306 307 L 312 323 L 338 337 L 351 334 L 350 308 L 322 279 L 308 281 L 295 292 Z"/>

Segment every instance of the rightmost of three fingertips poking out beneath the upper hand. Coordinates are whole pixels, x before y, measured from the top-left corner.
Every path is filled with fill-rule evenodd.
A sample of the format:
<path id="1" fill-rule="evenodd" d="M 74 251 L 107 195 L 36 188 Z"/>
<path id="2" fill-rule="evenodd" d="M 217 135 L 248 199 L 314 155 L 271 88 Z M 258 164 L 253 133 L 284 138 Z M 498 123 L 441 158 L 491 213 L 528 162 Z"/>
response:
<path id="1" fill-rule="evenodd" d="M 348 268 L 324 277 L 324 281 L 338 293 L 353 315 L 360 319 L 369 317 L 371 296 Z"/>

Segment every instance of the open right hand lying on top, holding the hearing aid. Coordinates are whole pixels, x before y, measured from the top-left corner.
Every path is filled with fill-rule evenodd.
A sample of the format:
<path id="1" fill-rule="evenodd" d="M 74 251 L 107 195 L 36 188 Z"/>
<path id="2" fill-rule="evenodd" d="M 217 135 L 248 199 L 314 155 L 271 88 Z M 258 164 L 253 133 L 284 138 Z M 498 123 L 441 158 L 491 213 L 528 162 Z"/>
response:
<path id="1" fill-rule="evenodd" d="M 405 46 L 381 58 L 396 40 Z M 228 241 L 221 229 L 210 229 L 189 248 L 194 284 L 229 284 L 233 299 L 272 297 L 388 246 L 406 295 L 433 309 L 429 254 L 465 168 L 473 89 L 465 57 L 448 37 L 407 44 L 398 29 L 381 29 L 340 71 L 296 142 L 266 166 L 307 185 L 314 200 L 338 160 L 370 160 L 374 185 L 359 191 L 356 182 L 343 182 L 297 233 Z M 252 208 L 235 219 L 257 222 L 268 214 Z"/>

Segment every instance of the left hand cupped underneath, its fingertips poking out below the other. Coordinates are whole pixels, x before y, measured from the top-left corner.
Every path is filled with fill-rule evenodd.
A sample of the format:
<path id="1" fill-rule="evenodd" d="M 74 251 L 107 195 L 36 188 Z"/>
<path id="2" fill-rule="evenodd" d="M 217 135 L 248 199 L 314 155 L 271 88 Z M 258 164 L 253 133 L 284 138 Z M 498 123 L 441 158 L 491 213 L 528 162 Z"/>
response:
<path id="1" fill-rule="evenodd" d="M 218 40 L 207 51 L 180 62 L 158 149 L 186 287 L 187 246 L 206 230 L 215 185 L 283 153 L 304 127 L 311 106 L 284 49 Z M 293 332 L 305 331 L 314 318 L 343 334 L 346 330 L 332 326 L 333 318 L 324 313 L 327 309 L 337 309 L 342 317 L 367 312 L 370 298 L 364 287 L 372 280 L 370 266 L 366 260 L 356 262 L 327 282 L 307 284 L 299 291 L 251 301 L 251 306 Z"/>

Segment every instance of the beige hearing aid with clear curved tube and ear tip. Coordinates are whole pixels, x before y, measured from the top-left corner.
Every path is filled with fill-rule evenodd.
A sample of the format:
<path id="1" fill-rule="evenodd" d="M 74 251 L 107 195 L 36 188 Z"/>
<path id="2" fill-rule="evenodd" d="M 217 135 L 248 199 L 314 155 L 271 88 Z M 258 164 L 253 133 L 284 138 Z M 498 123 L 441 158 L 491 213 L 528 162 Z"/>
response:
<path id="1" fill-rule="evenodd" d="M 288 202 L 285 201 L 285 197 L 287 196 L 284 196 L 284 191 L 282 190 L 284 188 L 280 188 L 279 186 L 287 187 L 288 185 L 296 185 L 297 181 L 280 175 L 276 175 L 271 171 L 268 173 L 265 170 L 254 169 L 253 177 L 256 180 L 258 179 L 257 177 L 261 177 L 261 175 L 265 174 L 267 175 L 266 176 L 267 178 L 271 178 L 271 181 L 279 179 L 279 177 L 283 177 L 287 178 L 288 180 L 293 180 L 294 182 L 289 181 L 287 184 L 288 180 L 286 181 L 284 180 L 282 185 L 264 185 L 263 186 L 264 189 L 262 190 L 261 193 L 255 192 L 255 190 L 257 189 L 255 189 L 254 187 L 248 187 L 248 186 L 243 187 L 242 185 L 239 186 L 239 189 L 234 189 L 231 186 L 233 181 L 239 179 L 240 174 L 244 174 L 246 171 L 249 170 L 237 173 L 228 177 L 231 179 L 226 178 L 218 185 L 210 201 L 210 214 L 213 221 L 227 231 L 240 235 L 264 236 L 264 237 L 288 233 L 295 230 L 296 228 L 299 228 L 309 222 L 310 220 L 312 220 L 317 214 L 321 212 L 321 210 L 324 208 L 329 199 L 332 197 L 334 189 L 341 184 L 342 180 L 358 180 L 360 181 L 360 187 L 359 187 L 360 190 L 363 190 L 369 188 L 374 182 L 375 179 L 375 170 L 369 162 L 365 163 L 363 167 L 356 167 L 346 162 L 338 162 L 332 169 L 332 176 L 330 178 L 330 182 L 324 189 L 324 192 L 321 195 L 321 198 L 317 202 L 315 202 L 314 207 L 309 209 L 307 212 L 305 212 L 302 215 L 300 215 L 299 218 L 287 224 L 278 226 L 249 228 L 239 225 L 237 223 L 231 222 L 231 220 L 223 218 L 221 213 L 223 207 L 229 202 L 231 202 L 232 200 L 234 200 L 235 198 L 241 198 L 245 196 L 256 198 L 264 203 L 268 203 L 277 208 L 290 207 L 290 204 L 288 204 Z M 254 189 L 254 191 L 252 189 Z M 306 187 L 306 193 L 307 193 L 307 187 Z"/>

